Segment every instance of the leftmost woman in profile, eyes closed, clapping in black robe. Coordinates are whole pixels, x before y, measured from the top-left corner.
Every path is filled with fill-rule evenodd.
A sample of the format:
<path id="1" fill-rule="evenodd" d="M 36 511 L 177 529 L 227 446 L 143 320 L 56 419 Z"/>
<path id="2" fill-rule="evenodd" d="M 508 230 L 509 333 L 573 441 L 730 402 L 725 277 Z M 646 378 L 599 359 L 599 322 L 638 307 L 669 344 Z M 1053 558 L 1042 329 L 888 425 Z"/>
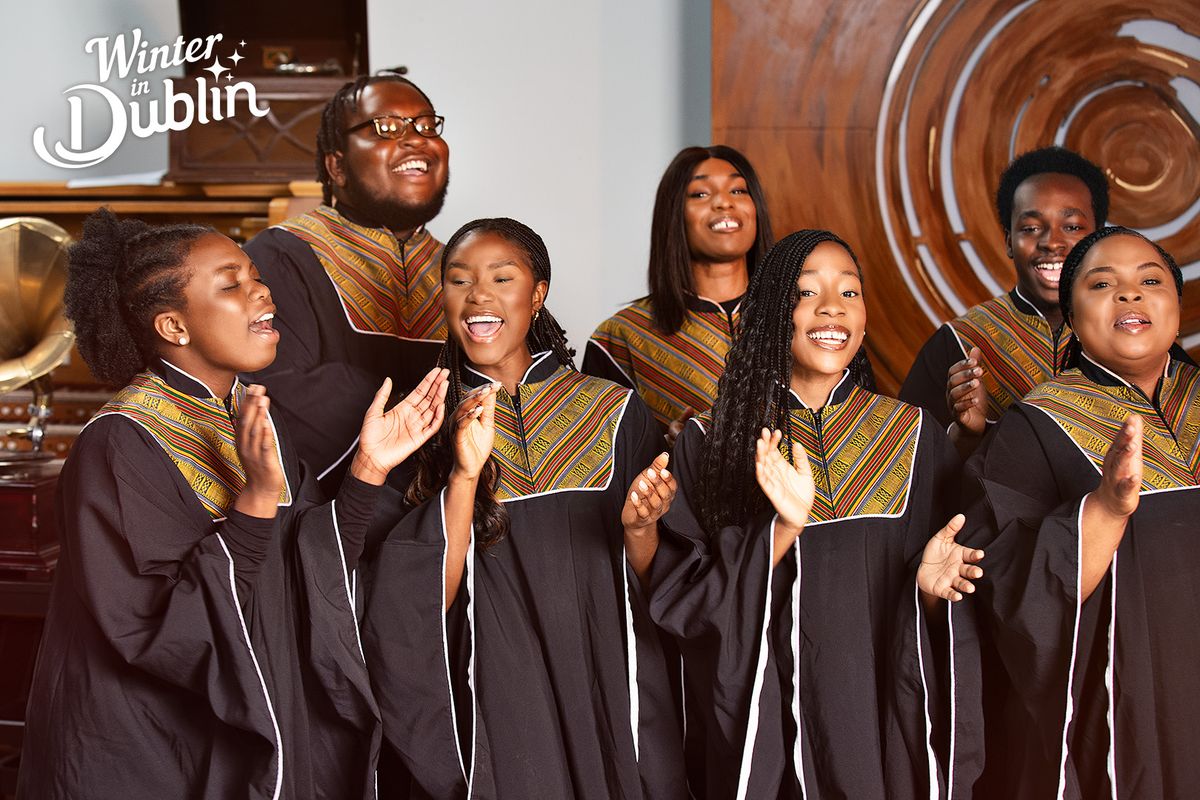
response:
<path id="1" fill-rule="evenodd" d="M 238 377 L 280 338 L 238 245 L 101 210 L 71 248 L 66 307 L 88 366 L 125 389 L 62 469 L 18 795 L 374 796 L 353 575 L 377 487 L 440 423 L 445 373 L 388 413 L 384 381 L 322 504 Z"/>

